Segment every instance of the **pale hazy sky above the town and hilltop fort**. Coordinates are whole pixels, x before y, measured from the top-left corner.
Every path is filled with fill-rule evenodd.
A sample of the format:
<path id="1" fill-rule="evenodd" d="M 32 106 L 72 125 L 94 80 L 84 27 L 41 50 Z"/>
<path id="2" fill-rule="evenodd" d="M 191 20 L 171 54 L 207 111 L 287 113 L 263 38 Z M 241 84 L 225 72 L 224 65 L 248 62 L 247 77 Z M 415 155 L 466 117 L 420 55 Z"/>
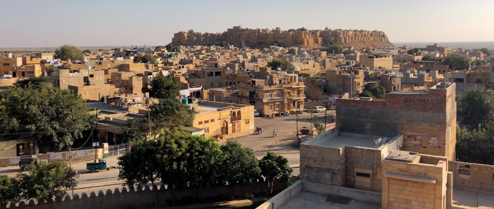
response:
<path id="1" fill-rule="evenodd" d="M 0 0 L 1 47 L 165 45 L 193 29 L 379 30 L 391 42 L 494 41 L 494 0 Z"/>

